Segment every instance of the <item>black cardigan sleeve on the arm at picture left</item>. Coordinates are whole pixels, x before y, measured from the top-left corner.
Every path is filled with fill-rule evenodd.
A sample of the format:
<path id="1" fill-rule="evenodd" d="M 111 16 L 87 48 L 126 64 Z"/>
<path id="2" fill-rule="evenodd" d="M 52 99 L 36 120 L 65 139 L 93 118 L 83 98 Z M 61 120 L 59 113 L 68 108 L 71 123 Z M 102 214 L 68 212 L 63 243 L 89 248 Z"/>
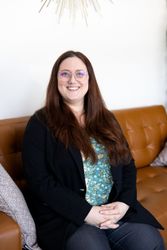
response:
<path id="1" fill-rule="evenodd" d="M 33 115 L 24 134 L 22 158 L 33 195 L 53 211 L 77 225 L 84 222 L 91 205 L 78 193 L 62 186 L 49 171 L 46 157 L 48 128 Z"/>

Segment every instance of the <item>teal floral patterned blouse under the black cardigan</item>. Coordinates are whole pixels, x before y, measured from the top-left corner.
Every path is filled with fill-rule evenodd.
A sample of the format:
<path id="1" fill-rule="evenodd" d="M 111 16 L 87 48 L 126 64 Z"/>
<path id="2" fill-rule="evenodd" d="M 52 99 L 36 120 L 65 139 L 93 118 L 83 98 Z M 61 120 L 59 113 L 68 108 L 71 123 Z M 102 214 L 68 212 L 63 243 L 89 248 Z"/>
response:
<path id="1" fill-rule="evenodd" d="M 90 159 L 83 159 L 86 200 L 91 205 L 102 205 L 108 201 L 113 185 L 111 165 L 107 150 L 95 139 L 91 139 L 98 161 L 93 164 Z"/>

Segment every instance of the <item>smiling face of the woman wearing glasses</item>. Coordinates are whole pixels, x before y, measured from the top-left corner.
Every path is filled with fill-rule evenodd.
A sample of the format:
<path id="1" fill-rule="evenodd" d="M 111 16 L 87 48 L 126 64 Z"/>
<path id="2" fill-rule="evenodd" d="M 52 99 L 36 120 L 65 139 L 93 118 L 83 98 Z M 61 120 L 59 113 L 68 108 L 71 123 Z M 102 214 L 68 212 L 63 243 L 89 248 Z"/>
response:
<path id="1" fill-rule="evenodd" d="M 89 75 L 78 57 L 68 57 L 59 66 L 58 90 L 67 104 L 80 105 L 88 91 Z"/>

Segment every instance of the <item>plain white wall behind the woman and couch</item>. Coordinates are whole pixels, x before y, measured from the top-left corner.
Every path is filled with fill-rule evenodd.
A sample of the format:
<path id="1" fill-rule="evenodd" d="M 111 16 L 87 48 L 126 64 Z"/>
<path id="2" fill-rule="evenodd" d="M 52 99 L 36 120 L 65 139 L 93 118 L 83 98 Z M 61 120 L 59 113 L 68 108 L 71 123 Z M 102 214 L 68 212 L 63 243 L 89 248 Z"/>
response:
<path id="1" fill-rule="evenodd" d="M 73 49 L 91 60 L 102 95 L 111 109 L 167 106 L 165 0 L 99 0 L 58 22 L 54 1 L 41 13 L 40 0 L 1 1 L 0 119 L 32 114 L 41 107 L 57 57 Z"/>

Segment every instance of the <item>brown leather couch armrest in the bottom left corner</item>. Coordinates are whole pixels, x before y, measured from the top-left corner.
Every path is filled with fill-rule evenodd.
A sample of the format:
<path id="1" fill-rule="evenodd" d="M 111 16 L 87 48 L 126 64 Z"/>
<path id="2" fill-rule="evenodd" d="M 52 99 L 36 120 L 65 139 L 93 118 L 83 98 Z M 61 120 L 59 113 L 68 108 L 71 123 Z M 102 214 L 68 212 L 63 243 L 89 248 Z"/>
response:
<path id="1" fill-rule="evenodd" d="M 3 212 L 0 212 L 0 246 L 1 250 L 22 249 L 18 224 Z"/>

